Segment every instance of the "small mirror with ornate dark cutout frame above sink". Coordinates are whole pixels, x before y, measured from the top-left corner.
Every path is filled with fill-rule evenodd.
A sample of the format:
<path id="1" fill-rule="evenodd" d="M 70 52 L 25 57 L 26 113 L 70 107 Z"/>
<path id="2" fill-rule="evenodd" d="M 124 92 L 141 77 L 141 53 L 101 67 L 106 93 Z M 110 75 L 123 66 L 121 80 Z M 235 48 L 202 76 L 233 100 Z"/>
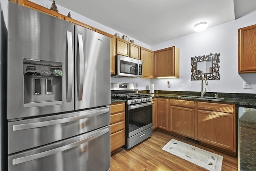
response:
<path id="1" fill-rule="evenodd" d="M 191 58 L 191 80 L 220 80 L 220 53 Z"/>

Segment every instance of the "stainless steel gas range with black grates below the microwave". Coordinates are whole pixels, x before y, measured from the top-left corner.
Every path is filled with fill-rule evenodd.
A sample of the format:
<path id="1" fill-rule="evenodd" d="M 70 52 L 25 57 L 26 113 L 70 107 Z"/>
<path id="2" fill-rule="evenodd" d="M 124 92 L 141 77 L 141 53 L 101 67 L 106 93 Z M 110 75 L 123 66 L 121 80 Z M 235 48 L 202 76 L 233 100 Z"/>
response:
<path id="1" fill-rule="evenodd" d="M 134 93 L 132 83 L 111 83 L 111 97 L 126 99 L 126 149 L 152 135 L 152 96 Z"/>

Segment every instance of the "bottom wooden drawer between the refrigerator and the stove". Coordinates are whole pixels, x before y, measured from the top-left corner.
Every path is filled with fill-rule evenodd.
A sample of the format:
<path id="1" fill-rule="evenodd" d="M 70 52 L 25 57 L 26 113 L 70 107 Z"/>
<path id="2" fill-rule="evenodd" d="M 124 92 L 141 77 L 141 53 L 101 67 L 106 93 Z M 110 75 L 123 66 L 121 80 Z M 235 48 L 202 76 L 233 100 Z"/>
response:
<path id="1" fill-rule="evenodd" d="M 125 145 L 125 130 L 118 131 L 110 135 L 110 151 L 114 151 Z"/>

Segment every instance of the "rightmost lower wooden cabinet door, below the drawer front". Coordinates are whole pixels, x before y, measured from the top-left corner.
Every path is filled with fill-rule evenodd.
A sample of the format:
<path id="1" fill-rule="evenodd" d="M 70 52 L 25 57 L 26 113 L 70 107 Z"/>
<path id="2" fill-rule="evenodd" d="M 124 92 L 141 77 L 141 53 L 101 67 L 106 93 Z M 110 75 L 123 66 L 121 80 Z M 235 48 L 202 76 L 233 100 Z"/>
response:
<path id="1" fill-rule="evenodd" d="M 198 110 L 198 140 L 235 152 L 234 115 Z"/>

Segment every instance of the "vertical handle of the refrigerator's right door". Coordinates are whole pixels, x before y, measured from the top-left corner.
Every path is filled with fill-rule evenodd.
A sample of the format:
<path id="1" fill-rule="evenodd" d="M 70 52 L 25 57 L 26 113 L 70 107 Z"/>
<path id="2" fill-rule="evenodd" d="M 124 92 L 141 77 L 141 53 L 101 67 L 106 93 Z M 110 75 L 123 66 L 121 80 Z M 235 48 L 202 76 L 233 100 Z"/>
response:
<path id="1" fill-rule="evenodd" d="M 78 100 L 82 100 L 83 87 L 84 87 L 84 45 L 83 38 L 81 34 L 78 34 L 78 55 L 77 58 L 77 90 L 78 90 Z"/>

